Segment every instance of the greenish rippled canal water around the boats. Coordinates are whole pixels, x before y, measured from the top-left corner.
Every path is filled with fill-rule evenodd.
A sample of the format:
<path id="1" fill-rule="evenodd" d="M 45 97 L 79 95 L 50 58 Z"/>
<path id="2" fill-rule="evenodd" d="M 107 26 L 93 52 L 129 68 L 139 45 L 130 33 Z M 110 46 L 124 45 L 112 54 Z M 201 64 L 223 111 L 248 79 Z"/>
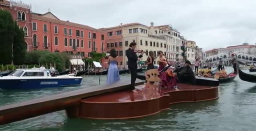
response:
<path id="1" fill-rule="evenodd" d="M 227 70 L 232 71 L 231 68 Z M 121 76 L 125 77 L 130 76 Z M 98 79 L 97 76 L 84 76 L 81 86 L 77 87 L 2 90 L 0 105 L 90 87 L 99 84 Z M 105 83 L 106 76 L 100 76 L 100 80 Z M 242 81 L 237 76 L 234 82 L 220 85 L 220 98 L 217 100 L 173 104 L 170 110 L 144 118 L 69 119 L 65 111 L 58 111 L 0 126 L 0 131 L 255 131 L 255 118 L 256 84 Z"/>

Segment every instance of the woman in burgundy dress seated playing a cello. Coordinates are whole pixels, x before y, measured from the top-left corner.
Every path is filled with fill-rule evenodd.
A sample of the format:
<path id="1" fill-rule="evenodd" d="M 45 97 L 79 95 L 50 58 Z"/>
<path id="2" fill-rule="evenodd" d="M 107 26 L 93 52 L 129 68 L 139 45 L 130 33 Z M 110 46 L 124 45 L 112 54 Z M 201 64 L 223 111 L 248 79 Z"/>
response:
<path id="1" fill-rule="evenodd" d="M 164 87 L 165 89 L 175 87 L 177 84 L 177 77 L 174 76 L 171 69 L 160 72 L 162 69 L 164 69 L 165 66 L 170 65 L 170 63 L 168 62 L 162 51 L 159 51 L 158 54 L 159 57 L 157 58 L 157 61 L 159 62 L 158 71 L 160 73 L 161 87 Z"/>

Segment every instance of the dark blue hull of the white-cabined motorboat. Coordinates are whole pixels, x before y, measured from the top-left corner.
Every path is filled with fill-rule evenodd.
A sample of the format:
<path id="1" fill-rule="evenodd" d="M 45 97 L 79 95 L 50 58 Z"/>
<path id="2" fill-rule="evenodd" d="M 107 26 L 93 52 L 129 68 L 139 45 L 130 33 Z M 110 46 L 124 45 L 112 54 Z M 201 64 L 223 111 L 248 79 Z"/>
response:
<path id="1" fill-rule="evenodd" d="M 39 89 L 80 85 L 82 78 L 76 79 L 11 79 L 0 80 L 1 89 Z"/>

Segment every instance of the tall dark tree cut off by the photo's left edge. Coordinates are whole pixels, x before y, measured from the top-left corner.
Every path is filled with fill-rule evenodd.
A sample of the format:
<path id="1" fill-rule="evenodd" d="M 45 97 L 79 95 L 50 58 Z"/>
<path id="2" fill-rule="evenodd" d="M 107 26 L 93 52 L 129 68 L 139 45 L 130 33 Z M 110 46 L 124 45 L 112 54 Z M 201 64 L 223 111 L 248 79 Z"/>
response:
<path id="1" fill-rule="evenodd" d="M 0 10 L 0 64 L 12 63 L 14 20 L 6 10 Z"/>

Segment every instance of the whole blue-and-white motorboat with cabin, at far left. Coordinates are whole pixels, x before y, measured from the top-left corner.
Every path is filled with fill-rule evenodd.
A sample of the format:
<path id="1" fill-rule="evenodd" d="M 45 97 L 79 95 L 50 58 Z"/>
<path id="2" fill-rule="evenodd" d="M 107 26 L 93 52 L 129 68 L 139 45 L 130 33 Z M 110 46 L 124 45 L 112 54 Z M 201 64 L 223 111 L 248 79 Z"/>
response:
<path id="1" fill-rule="evenodd" d="M 17 69 L 8 76 L 0 77 L 1 89 L 38 89 L 44 87 L 61 87 L 80 85 L 83 77 L 54 76 L 48 70 Z"/>

